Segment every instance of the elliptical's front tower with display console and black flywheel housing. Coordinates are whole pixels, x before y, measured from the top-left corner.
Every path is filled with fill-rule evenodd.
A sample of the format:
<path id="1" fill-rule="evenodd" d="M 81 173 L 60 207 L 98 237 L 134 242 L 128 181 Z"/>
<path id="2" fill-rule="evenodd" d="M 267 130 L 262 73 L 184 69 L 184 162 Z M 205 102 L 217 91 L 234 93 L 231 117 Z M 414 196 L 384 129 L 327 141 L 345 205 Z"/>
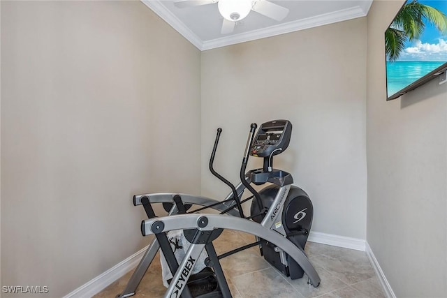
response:
<path id="1" fill-rule="evenodd" d="M 253 220 L 266 228 L 279 232 L 298 248 L 304 250 L 312 226 L 314 208 L 309 195 L 298 186 L 292 186 L 290 173 L 273 168 L 273 156 L 284 152 L 291 139 L 292 124 L 276 120 L 261 125 L 251 145 L 250 155 L 263 158 L 263 168 L 247 172 L 245 177 L 253 184 L 272 185 L 259 193 L 254 191 L 251 202 Z M 261 204 L 259 203 L 261 202 Z M 256 215 L 259 214 L 259 215 Z M 293 258 L 276 245 L 261 239 L 261 255 L 291 279 L 302 278 L 304 271 Z"/>

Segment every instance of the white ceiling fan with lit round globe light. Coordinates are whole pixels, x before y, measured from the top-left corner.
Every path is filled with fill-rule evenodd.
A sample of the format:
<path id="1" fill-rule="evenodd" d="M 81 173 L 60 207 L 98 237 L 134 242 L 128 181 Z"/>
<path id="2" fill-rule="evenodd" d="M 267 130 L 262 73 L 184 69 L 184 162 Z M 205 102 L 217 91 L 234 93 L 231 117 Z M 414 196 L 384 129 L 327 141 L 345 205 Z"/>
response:
<path id="1" fill-rule="evenodd" d="M 288 8 L 267 0 L 179 0 L 175 1 L 174 5 L 186 8 L 213 3 L 217 3 L 219 13 L 223 17 L 222 34 L 233 32 L 236 22 L 247 17 L 251 10 L 277 21 L 284 20 L 288 14 Z"/>

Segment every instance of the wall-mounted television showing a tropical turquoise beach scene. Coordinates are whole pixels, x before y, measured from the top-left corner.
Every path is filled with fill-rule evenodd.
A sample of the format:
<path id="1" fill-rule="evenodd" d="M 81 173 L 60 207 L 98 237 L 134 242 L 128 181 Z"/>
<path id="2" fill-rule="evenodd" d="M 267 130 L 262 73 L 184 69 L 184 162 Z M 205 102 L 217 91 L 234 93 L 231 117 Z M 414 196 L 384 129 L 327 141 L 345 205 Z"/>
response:
<path id="1" fill-rule="evenodd" d="M 385 48 L 387 100 L 444 76 L 447 0 L 407 0 L 386 29 Z"/>

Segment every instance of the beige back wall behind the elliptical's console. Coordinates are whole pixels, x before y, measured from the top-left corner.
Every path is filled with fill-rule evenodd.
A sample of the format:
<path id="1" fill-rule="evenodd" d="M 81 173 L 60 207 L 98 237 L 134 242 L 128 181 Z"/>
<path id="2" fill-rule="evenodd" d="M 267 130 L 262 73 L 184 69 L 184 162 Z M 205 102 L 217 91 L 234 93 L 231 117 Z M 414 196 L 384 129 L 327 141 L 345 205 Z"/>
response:
<path id="1" fill-rule="evenodd" d="M 237 183 L 249 124 L 289 119 L 275 166 L 309 193 L 312 230 L 365 239 L 366 31 L 360 18 L 202 53 L 203 195 L 229 191 L 207 170 L 217 127 L 216 169 Z"/>

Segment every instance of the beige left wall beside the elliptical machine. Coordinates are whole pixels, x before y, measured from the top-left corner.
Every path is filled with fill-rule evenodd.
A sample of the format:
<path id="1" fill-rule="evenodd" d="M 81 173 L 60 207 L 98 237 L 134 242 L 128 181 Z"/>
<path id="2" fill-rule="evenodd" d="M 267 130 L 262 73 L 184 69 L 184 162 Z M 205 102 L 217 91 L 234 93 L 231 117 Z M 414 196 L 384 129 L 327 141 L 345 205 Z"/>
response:
<path id="1" fill-rule="evenodd" d="M 131 195 L 200 192 L 200 52 L 140 1 L 1 6 L 1 283 L 61 297 L 147 244 Z"/>

